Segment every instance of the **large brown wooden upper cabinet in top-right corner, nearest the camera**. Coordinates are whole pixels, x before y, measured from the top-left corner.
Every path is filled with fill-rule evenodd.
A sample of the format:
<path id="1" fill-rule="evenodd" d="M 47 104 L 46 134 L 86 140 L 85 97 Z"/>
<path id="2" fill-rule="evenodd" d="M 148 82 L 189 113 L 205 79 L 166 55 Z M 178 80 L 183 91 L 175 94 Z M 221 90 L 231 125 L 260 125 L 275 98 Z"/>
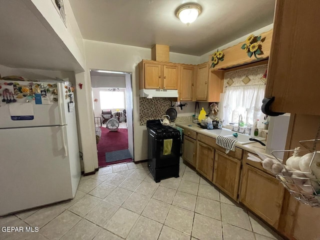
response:
<path id="1" fill-rule="evenodd" d="M 265 97 L 270 110 L 320 115 L 320 4 L 316 0 L 277 0 Z"/>

